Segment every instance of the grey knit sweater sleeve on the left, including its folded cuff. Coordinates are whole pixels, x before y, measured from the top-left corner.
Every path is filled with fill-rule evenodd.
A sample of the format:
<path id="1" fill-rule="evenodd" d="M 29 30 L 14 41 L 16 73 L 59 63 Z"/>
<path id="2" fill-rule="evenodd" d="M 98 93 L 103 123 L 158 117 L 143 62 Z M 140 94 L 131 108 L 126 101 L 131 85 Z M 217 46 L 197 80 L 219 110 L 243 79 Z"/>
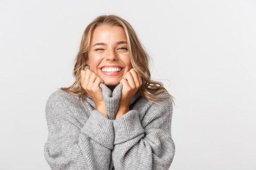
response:
<path id="1" fill-rule="evenodd" d="M 79 114 L 78 107 L 72 106 L 70 100 L 74 99 L 68 93 L 54 93 L 48 99 L 45 159 L 52 170 L 110 169 L 113 122 L 96 110 L 91 110 L 89 117 Z"/>

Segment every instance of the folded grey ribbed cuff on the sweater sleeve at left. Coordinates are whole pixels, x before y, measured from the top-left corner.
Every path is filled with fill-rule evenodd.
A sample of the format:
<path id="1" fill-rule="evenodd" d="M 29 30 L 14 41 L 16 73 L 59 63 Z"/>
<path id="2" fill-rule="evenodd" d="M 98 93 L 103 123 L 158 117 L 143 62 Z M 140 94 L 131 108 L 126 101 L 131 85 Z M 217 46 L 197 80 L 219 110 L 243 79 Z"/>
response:
<path id="1" fill-rule="evenodd" d="M 83 126 L 81 131 L 102 146 L 113 149 L 113 121 L 107 119 L 99 111 L 92 111 L 89 119 L 86 121 L 85 126 Z"/>

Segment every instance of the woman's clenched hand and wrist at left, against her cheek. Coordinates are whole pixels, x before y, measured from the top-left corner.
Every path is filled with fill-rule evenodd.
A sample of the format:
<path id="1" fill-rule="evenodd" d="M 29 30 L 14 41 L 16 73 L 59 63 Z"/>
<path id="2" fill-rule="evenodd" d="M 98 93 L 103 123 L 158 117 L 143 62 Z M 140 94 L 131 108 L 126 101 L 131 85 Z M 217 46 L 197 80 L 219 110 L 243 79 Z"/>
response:
<path id="1" fill-rule="evenodd" d="M 95 103 L 96 110 L 108 118 L 102 90 L 99 84 L 104 83 L 94 72 L 88 70 L 81 71 L 81 86 Z"/>

